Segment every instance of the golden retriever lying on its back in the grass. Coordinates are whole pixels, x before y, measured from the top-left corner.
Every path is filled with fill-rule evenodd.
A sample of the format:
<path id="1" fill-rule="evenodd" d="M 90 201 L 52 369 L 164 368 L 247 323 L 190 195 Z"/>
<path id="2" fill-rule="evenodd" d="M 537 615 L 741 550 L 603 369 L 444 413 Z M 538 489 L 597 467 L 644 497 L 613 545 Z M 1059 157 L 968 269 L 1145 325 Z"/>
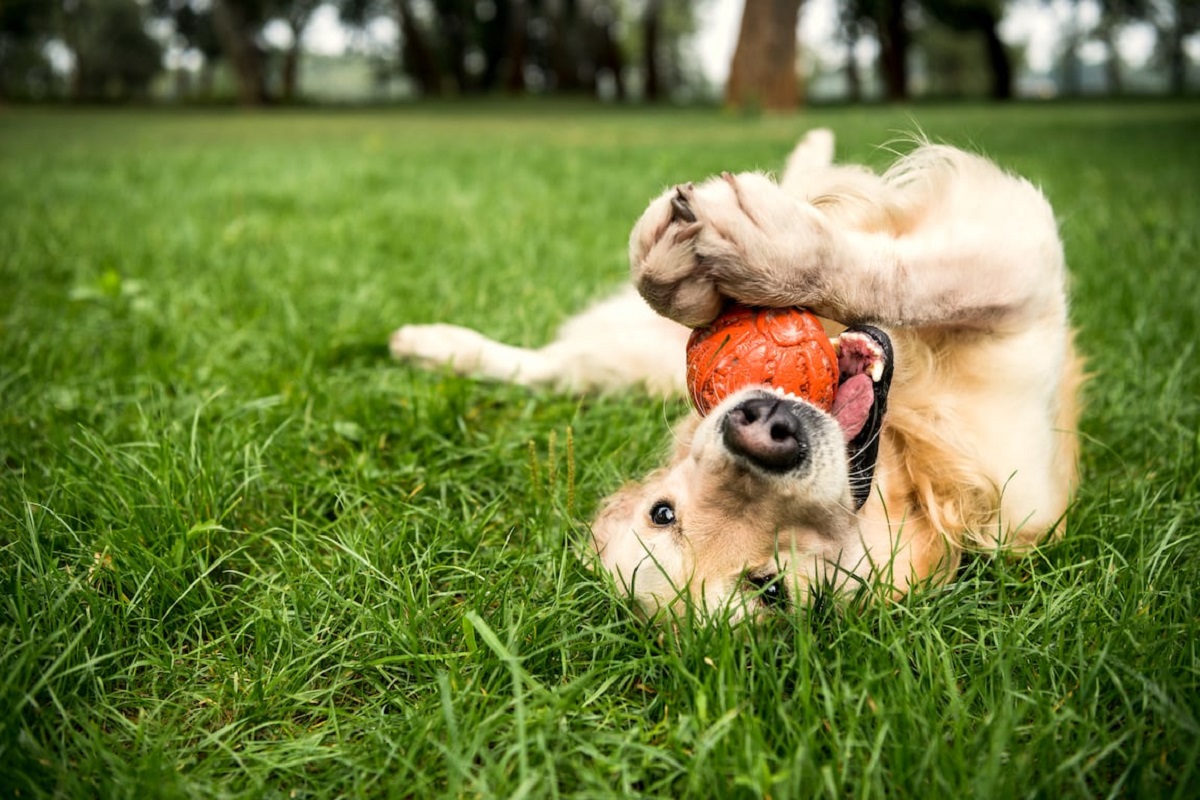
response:
<path id="1" fill-rule="evenodd" d="M 835 166 L 833 134 L 812 131 L 779 181 L 722 174 L 652 200 L 630 263 L 636 291 L 545 348 L 410 325 L 391 350 L 564 391 L 670 393 L 689 329 L 731 300 L 822 318 L 832 411 L 748 386 L 674 426 L 667 463 L 601 506 L 599 563 L 646 613 L 899 596 L 952 577 L 964 552 L 1063 533 L 1082 368 L 1055 217 L 1027 181 L 931 144 L 881 175 Z"/>

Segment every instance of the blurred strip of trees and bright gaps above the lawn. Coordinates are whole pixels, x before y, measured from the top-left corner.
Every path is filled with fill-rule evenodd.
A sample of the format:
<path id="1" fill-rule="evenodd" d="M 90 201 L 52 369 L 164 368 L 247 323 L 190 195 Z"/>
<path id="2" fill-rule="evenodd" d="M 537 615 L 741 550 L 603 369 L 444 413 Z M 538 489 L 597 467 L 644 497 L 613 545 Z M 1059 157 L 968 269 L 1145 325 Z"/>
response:
<path id="1" fill-rule="evenodd" d="M 0 0 L 0 101 L 1183 95 L 1200 0 Z"/>

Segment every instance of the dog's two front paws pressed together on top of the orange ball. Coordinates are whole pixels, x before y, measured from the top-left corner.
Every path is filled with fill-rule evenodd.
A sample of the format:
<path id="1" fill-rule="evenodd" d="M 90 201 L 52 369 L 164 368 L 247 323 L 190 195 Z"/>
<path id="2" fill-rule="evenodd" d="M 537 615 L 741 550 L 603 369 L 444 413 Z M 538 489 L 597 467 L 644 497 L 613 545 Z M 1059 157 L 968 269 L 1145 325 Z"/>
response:
<path id="1" fill-rule="evenodd" d="M 650 204 L 630 240 L 642 296 L 692 327 L 712 321 L 725 299 L 814 305 L 828 254 L 820 213 L 756 173 L 674 187 Z"/>

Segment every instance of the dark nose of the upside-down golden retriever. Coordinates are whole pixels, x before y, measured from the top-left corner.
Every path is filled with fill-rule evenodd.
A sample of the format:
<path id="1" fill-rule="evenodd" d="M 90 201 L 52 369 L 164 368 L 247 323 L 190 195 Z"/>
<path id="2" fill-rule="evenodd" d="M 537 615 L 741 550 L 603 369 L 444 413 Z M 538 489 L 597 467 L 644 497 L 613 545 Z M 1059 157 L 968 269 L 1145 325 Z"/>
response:
<path id="1" fill-rule="evenodd" d="M 786 473 L 804 462 L 809 440 L 792 404 L 776 397 L 755 397 L 725 416 L 725 446 L 758 467 Z"/>

